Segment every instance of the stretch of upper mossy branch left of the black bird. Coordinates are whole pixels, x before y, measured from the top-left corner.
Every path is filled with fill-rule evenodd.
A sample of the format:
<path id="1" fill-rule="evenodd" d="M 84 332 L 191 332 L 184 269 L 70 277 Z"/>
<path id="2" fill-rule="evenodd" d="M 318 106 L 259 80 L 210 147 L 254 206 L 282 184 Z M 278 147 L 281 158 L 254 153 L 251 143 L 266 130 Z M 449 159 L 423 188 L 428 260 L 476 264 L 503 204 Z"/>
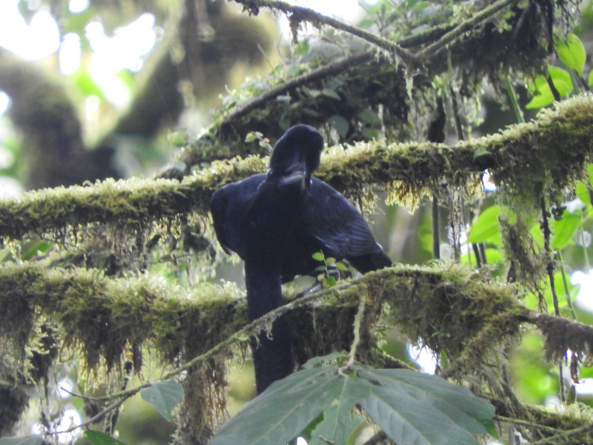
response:
<path id="1" fill-rule="evenodd" d="M 93 222 L 115 227 L 142 227 L 162 218 L 209 209 L 212 191 L 227 182 L 259 173 L 264 161 L 249 158 L 219 163 L 183 181 L 111 179 L 89 186 L 42 189 L 0 203 L 0 236 L 20 239 Z"/>

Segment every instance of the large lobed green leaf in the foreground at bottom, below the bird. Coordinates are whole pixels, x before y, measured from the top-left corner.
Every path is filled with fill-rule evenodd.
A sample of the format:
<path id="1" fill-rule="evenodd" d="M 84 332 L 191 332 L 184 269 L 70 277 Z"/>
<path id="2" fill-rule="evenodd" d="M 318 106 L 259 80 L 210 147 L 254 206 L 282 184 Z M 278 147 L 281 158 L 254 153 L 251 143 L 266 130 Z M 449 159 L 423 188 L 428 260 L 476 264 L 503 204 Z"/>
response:
<path id="1" fill-rule="evenodd" d="M 362 365 L 343 375 L 337 365 L 323 365 L 270 385 L 222 425 L 211 445 L 283 445 L 321 412 L 311 444 L 347 444 L 364 422 L 352 414 L 355 405 L 398 443 L 477 444 L 474 434 L 496 435 L 493 406 L 447 380 Z"/>

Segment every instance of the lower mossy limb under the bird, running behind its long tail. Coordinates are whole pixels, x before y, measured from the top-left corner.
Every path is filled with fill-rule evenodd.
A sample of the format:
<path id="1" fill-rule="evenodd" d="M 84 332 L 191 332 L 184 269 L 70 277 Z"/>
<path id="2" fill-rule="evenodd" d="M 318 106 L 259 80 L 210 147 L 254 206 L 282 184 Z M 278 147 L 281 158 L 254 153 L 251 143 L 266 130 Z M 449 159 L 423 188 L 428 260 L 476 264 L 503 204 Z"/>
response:
<path id="1" fill-rule="evenodd" d="M 274 317 L 288 310 L 291 310 L 293 325 L 310 324 L 313 320 L 308 304 L 314 303 L 316 321 L 311 329 L 299 329 L 295 335 L 298 336 L 295 338 L 298 352 L 316 354 L 327 345 L 340 348 L 340 341 L 341 348 L 347 348 L 352 337 L 352 317 L 344 320 L 344 311 L 354 315 L 362 287 L 368 295 L 367 306 L 387 305 L 388 317 L 410 338 L 420 339 L 435 351 L 447 351 L 453 365 L 452 377 L 460 378 L 468 373 L 482 375 L 486 372 L 482 370 L 483 364 L 492 360 L 492 349 L 517 338 L 524 323 L 533 323 L 544 331 L 547 347 L 550 345 L 554 350 L 554 357 L 567 347 L 575 350 L 581 347 L 585 350 L 579 352 L 585 355 L 593 352 L 593 342 L 579 343 L 578 340 L 583 333 L 586 338 L 593 338 L 591 326 L 527 310 L 517 300 L 517 295 L 521 295 L 520 287 L 492 282 L 487 275 L 446 263 L 398 265 L 371 272 L 336 288 L 294 300 L 267 314 L 246 332 L 269 326 Z M 6 326 L 5 319 L 11 319 L 18 321 L 19 329 L 24 330 L 27 323 L 21 322 L 43 314 L 47 322 L 62 326 L 65 345 L 80 348 L 91 366 L 99 362 L 117 365 L 132 347 L 152 345 L 157 347 L 165 366 L 175 367 L 176 358 L 188 361 L 216 348 L 229 337 L 238 341 L 240 338 L 235 332 L 246 323 L 244 303 L 234 287 L 202 285 L 182 291 L 148 278 L 113 279 L 99 271 L 85 269 L 47 271 L 40 264 L 25 263 L 0 268 L 0 290 L 5 308 L 0 326 Z M 419 307 L 429 310 L 419 311 Z M 327 323 L 336 319 L 334 314 L 338 314 L 343 323 Z M 369 323 L 366 318 L 363 324 Z M 570 326 L 565 326 L 566 323 Z M 31 322 L 28 326 L 32 326 Z M 100 332 L 104 326 L 107 330 Z M 331 330 L 325 326 L 331 326 Z M 361 332 L 367 329 L 369 326 L 363 327 Z M 3 332 L 8 338 L 14 334 Z M 20 335 L 21 339 L 26 337 Z M 242 338 L 247 338 L 247 334 Z M 320 341 L 324 342 L 321 346 Z M 201 352 L 197 351 L 197 346 Z M 372 342 L 362 341 L 359 349 L 365 348 L 372 348 Z M 359 350 L 358 357 L 372 357 L 367 352 Z M 208 358 L 209 354 L 203 357 Z M 200 388 L 206 390 L 203 386 Z M 491 396 L 496 398 L 499 413 L 509 415 L 507 402 L 498 398 L 497 393 Z M 222 392 L 216 392 L 216 397 L 224 398 Z M 222 400 L 209 403 L 224 406 Z M 529 414 L 532 411 L 533 408 L 525 405 L 519 418 L 536 422 Z M 513 415 L 517 415 L 516 411 Z M 540 415 L 542 418 L 537 422 L 560 428 L 562 420 L 554 418 L 562 415 Z M 584 428 L 588 419 L 581 416 L 579 422 L 572 418 L 562 429 L 572 428 L 575 431 L 571 434 L 577 434 L 575 428 Z"/>

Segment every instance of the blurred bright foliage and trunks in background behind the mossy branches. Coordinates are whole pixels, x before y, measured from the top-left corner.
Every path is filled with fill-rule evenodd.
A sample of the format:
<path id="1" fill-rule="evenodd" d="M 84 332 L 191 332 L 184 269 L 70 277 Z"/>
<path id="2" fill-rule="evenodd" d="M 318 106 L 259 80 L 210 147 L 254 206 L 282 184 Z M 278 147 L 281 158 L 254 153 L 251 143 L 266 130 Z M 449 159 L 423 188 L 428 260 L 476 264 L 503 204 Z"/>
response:
<path id="1" fill-rule="evenodd" d="M 326 8 L 318 9 L 324 14 L 339 11 L 337 14 L 343 16 L 343 20 L 376 31 L 388 28 L 387 19 L 396 13 L 409 15 L 410 22 L 421 19 L 426 24 L 431 18 L 438 21 L 439 10 L 447 4 L 436 0 L 383 0 L 374 4 L 364 1 L 317 2 L 312 7 Z M 209 0 L 2 2 L 0 193 L 20 196 L 24 190 L 81 184 L 106 177 L 184 174 L 186 166 L 179 166 L 179 159 L 187 159 L 187 152 L 192 152 L 187 147 L 203 141 L 208 134 L 205 129 L 212 122 L 224 120 L 221 109 L 235 106 L 257 91 L 273 86 L 274 75 L 278 73 L 305 73 L 319 61 L 359 50 L 357 42 L 332 30 L 322 32 L 313 26 L 301 31 L 298 42 L 292 42 L 290 23 L 283 15 L 273 16 L 262 11 L 257 17 L 249 17 L 241 9 L 241 5 L 232 2 Z M 575 17 L 578 15 L 575 12 Z M 559 58 L 551 58 L 550 75 L 557 87 L 564 82 L 565 88 L 558 88 L 563 97 L 591 84 L 591 2 L 581 5 L 581 15 L 582 20 L 574 33 L 584 45 L 584 69 L 575 72 L 575 68 L 567 67 Z M 526 16 L 521 20 L 535 19 Z M 544 25 L 540 23 L 538 26 Z M 559 39 L 564 37 L 559 36 Z M 557 69 L 562 71 L 554 71 Z M 365 75 L 361 72 L 362 80 Z M 586 80 L 587 77 L 588 84 L 586 81 L 579 83 L 580 78 Z M 393 72 L 385 78 L 399 81 Z M 544 91 L 545 79 L 544 83 L 535 76 L 532 79 L 531 83 L 514 79 L 512 86 L 525 119 L 533 117 L 539 107 L 547 106 L 553 100 L 551 93 Z M 334 104 L 332 112 L 323 110 L 323 119 L 313 109 L 301 114 L 302 120 L 312 125 L 323 122 L 330 145 L 384 136 L 385 119 L 390 113 L 394 116 L 421 112 L 438 115 L 438 110 L 403 107 L 397 97 L 381 109 L 386 110 L 384 115 L 372 111 L 378 110 L 376 108 L 361 114 L 348 103 L 345 94 L 348 90 L 343 88 L 342 82 L 336 77 L 322 87 L 311 86 L 301 92 L 317 103 L 325 100 Z M 432 86 L 438 87 L 438 82 L 437 76 Z M 375 85 L 377 88 L 381 86 L 381 83 Z M 467 137 L 492 134 L 517 122 L 518 114 L 499 85 L 493 87 L 484 78 L 477 84 L 477 90 L 477 99 L 463 102 Z M 539 103 L 532 100 L 534 93 L 540 99 Z M 282 97 L 287 103 L 291 101 L 288 93 L 275 100 L 282 103 Z M 463 97 L 460 99 L 464 100 Z M 358 113 L 356 125 L 347 115 L 349 107 L 352 113 Z M 253 128 L 248 129 L 275 139 L 279 130 L 295 123 L 290 122 L 289 117 L 283 120 L 282 115 L 275 116 L 275 120 L 268 119 L 265 125 L 249 124 Z M 428 126 L 426 123 L 425 127 Z M 451 119 L 444 130 L 444 141 L 454 141 L 459 136 Z M 242 143 L 246 132 L 241 132 L 228 133 Z M 397 139 L 401 134 L 404 134 L 403 130 L 393 128 L 391 136 Z M 410 139 L 415 136 L 409 129 L 406 134 Z M 225 137 L 230 139 L 231 136 Z M 201 158 L 193 164 L 208 166 L 209 161 L 216 158 L 228 154 L 244 155 L 259 149 L 252 147 L 241 151 L 243 149 L 231 147 L 227 150 L 203 151 Z M 503 276 L 508 272 L 508 264 L 502 251 L 498 222 L 500 208 L 492 198 L 496 187 L 487 181 L 484 187 L 485 198 L 469 206 L 467 225 L 461 237 L 461 260 L 476 265 L 470 243 L 482 243 L 493 275 Z M 588 198 L 589 190 L 587 185 L 576 190 L 576 197 L 565 203 L 566 211 L 553 222 L 553 248 L 562 265 L 557 272 L 556 286 L 560 294 L 566 295 L 560 302 L 563 313 L 593 324 L 593 288 L 588 259 L 593 252 L 593 208 Z M 378 199 L 378 203 L 385 201 L 381 193 L 380 198 L 383 199 Z M 375 236 L 394 261 L 422 263 L 432 258 L 430 209 L 429 202 L 423 202 L 414 212 L 406 206 L 378 204 L 375 212 L 368 215 Z M 469 230 L 471 222 L 473 225 Z M 537 230 L 539 223 L 534 222 L 534 231 Z M 445 225 L 441 231 L 444 240 L 441 255 L 447 258 L 453 255 L 454 235 Z M 43 255 L 51 246 L 48 241 L 31 241 L 20 247 L 21 258 Z M 14 260 L 8 249 L 2 255 L 5 261 Z M 184 264 L 181 261 L 178 271 L 156 264 L 151 271 L 167 279 L 190 282 L 187 277 L 190 268 Z M 232 259 L 223 260 L 213 279 L 221 278 L 241 284 L 241 265 Z M 545 296 L 551 307 L 551 293 Z M 533 295 L 526 304 L 537 309 L 537 297 Z M 543 360 L 542 346 L 543 340 L 535 330 L 525 332 L 520 344 L 509 351 L 509 374 L 523 401 L 556 405 L 559 403 L 559 379 L 565 379 L 569 386 L 573 383 L 566 367 L 566 375 L 560 376 L 556 366 Z M 435 361 L 431 353 L 418 345 L 410 345 L 396 329 L 388 330 L 383 347 L 394 357 L 434 371 Z M 151 372 L 158 374 L 158 370 Z M 250 364 L 246 364 L 237 367 L 229 376 L 231 414 L 254 396 L 252 372 Z M 593 403 L 592 373 L 590 368 L 582 368 L 580 383 L 575 384 L 578 400 L 589 404 Z M 59 374 L 59 387 L 75 393 L 84 391 L 85 382 L 79 378 L 75 363 L 63 365 Z M 149 379 L 150 376 L 143 374 L 141 377 Z M 95 391 L 100 393 L 101 390 L 107 389 Z M 59 399 L 65 424 L 70 419 L 79 422 L 84 412 L 81 400 L 63 391 L 59 393 Z M 24 428 L 34 430 L 38 419 L 34 404 L 31 405 Z M 175 427 L 135 396 L 126 402 L 117 430 L 119 439 L 128 444 L 160 444 L 168 442 Z M 72 440 L 71 437 L 60 439 L 63 443 Z"/>

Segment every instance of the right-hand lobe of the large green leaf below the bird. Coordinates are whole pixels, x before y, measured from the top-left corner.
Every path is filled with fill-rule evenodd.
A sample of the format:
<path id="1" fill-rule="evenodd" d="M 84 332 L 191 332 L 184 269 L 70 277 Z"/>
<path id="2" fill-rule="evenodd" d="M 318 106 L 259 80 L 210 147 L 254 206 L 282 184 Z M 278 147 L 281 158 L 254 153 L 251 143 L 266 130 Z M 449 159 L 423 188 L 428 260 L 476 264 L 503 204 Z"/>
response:
<path id="1" fill-rule="evenodd" d="M 497 434 L 494 407 L 466 387 L 417 371 L 354 368 L 374 382 L 361 407 L 396 443 L 477 445 L 474 434 Z"/>

